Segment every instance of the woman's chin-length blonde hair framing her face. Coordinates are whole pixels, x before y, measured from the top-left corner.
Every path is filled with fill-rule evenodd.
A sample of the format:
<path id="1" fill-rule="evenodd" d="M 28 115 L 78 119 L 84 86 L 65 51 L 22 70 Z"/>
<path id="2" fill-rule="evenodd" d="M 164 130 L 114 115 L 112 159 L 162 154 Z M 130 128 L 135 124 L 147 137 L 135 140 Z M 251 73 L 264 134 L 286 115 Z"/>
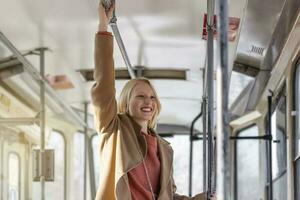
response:
<path id="1" fill-rule="evenodd" d="M 156 126 L 157 117 L 158 117 L 158 115 L 160 113 L 160 110 L 161 110 L 161 104 L 160 104 L 160 101 L 158 99 L 155 88 L 151 84 L 150 80 L 148 80 L 146 78 L 132 79 L 132 80 L 129 80 L 125 84 L 125 86 L 123 87 L 122 92 L 120 94 L 120 97 L 119 97 L 118 112 L 119 113 L 128 113 L 128 111 L 129 111 L 129 101 L 130 101 L 130 97 L 132 96 L 132 91 L 133 91 L 134 87 L 138 83 L 141 83 L 141 82 L 148 84 L 150 86 L 150 88 L 152 89 L 155 97 L 156 97 L 155 98 L 156 99 L 156 109 L 154 111 L 152 119 L 149 120 L 149 122 L 148 122 L 148 128 L 153 129 Z"/>

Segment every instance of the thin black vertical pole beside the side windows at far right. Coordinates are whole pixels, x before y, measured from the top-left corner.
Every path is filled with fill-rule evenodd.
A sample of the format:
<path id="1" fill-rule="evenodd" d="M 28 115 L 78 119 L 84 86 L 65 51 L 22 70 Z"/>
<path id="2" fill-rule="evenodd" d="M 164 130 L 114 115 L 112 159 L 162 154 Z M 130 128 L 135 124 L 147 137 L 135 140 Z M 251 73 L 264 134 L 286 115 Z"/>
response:
<path id="1" fill-rule="evenodd" d="M 268 95 L 268 133 L 269 140 L 267 140 L 267 152 L 268 152 L 268 161 L 267 161 L 267 181 L 269 183 L 268 189 L 268 199 L 273 200 L 273 174 L 272 174 L 272 96 L 273 93 L 270 91 Z"/>

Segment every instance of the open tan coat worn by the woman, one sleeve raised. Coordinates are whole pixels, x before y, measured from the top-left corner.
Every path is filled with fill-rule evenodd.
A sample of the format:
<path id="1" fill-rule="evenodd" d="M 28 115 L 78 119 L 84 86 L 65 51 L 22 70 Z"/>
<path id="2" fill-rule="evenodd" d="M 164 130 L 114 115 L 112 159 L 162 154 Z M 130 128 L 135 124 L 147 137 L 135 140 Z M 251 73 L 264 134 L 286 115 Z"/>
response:
<path id="1" fill-rule="evenodd" d="M 141 164 L 142 157 L 146 155 L 147 143 L 140 134 L 141 127 L 129 115 L 117 113 L 112 36 L 96 34 L 95 66 L 96 83 L 91 94 L 95 124 L 100 133 L 100 184 L 96 199 L 131 200 L 127 172 Z M 175 194 L 173 150 L 167 141 L 156 136 L 161 161 L 158 199 L 204 199 L 203 194 L 194 198 Z"/>

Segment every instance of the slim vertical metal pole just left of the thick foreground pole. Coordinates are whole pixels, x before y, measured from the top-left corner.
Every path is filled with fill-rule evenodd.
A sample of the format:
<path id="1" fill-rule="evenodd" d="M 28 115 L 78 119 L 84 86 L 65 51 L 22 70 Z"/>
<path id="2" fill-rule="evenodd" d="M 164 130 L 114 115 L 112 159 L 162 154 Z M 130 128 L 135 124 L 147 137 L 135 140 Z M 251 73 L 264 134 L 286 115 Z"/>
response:
<path id="1" fill-rule="evenodd" d="M 207 134 L 208 134 L 208 196 L 214 189 L 213 180 L 213 130 L 214 130 L 214 0 L 207 1 Z"/>

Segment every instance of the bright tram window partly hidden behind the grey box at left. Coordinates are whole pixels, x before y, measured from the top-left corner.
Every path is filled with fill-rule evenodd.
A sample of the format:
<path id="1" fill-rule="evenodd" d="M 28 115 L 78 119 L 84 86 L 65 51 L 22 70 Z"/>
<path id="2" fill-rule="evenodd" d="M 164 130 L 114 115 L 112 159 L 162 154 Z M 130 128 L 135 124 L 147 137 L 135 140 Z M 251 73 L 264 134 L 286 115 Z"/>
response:
<path id="1" fill-rule="evenodd" d="M 40 148 L 39 146 L 37 148 Z M 47 140 L 47 149 L 54 149 L 54 181 L 45 183 L 46 200 L 63 200 L 65 199 L 65 140 L 59 132 L 52 131 Z M 41 198 L 41 183 L 33 183 L 33 199 Z"/>

